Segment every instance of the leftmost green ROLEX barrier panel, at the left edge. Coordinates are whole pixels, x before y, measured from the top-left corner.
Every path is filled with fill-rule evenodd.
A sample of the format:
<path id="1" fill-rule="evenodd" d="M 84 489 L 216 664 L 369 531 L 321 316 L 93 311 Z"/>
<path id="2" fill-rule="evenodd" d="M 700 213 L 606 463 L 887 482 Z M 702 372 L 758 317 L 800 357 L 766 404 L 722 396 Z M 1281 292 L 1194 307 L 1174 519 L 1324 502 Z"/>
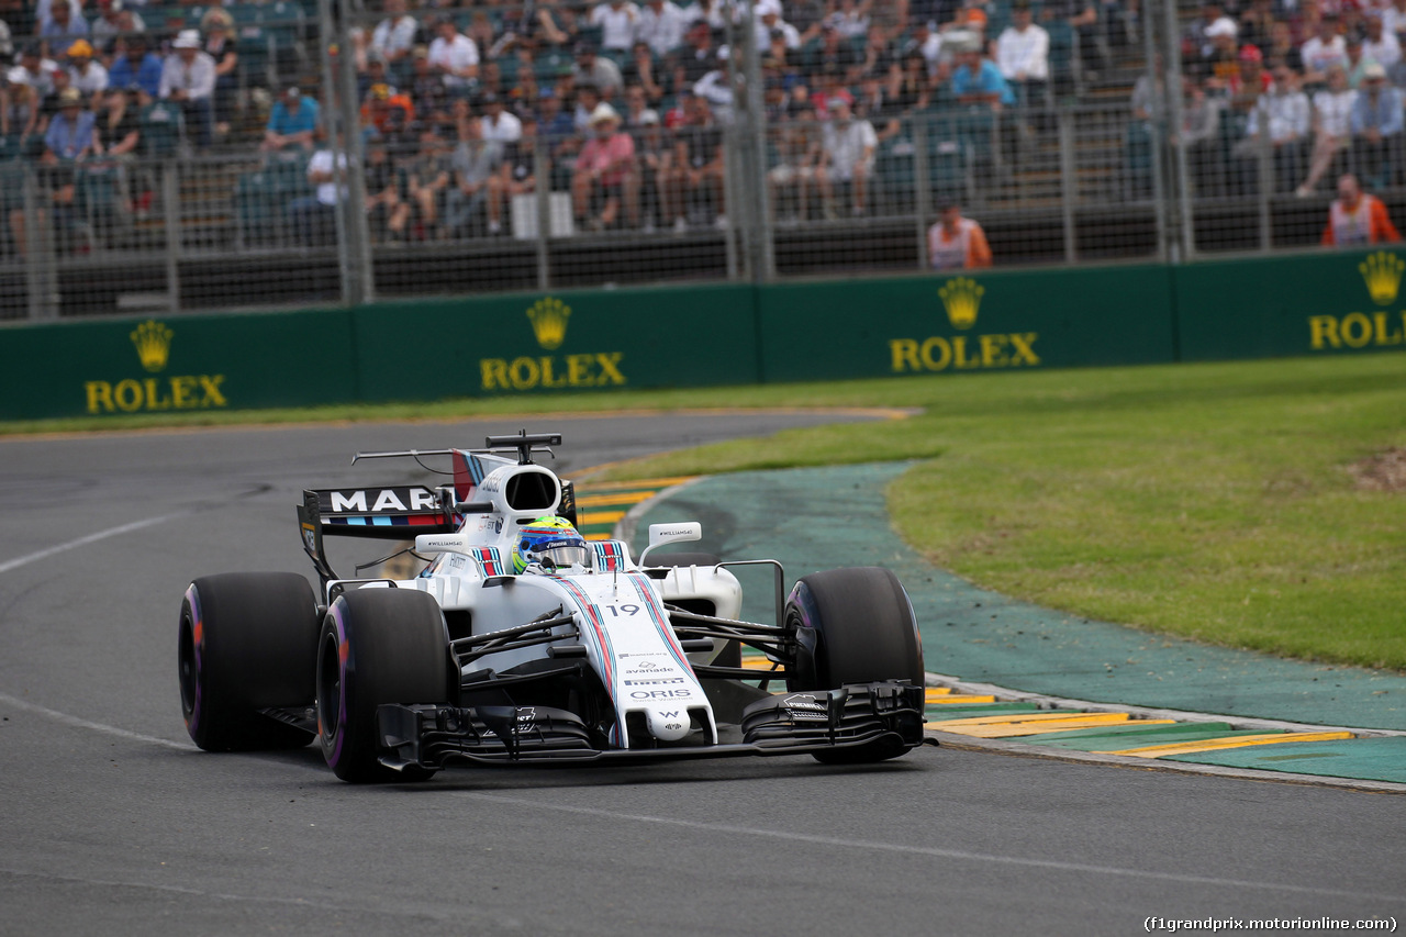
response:
<path id="1" fill-rule="evenodd" d="M 349 312 L 104 319 L 0 329 L 0 419 L 354 400 Z"/>

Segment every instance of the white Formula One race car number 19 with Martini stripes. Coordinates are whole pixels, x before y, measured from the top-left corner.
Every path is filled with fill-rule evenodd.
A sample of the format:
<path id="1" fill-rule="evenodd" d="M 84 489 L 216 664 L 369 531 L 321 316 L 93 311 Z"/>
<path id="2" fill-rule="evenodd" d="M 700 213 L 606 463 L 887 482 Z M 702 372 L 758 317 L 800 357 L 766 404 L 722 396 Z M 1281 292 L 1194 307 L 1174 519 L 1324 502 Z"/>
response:
<path id="1" fill-rule="evenodd" d="M 697 523 L 652 525 L 638 560 L 575 529 L 572 483 L 533 463 L 561 436 L 489 436 L 453 484 L 305 491 L 294 573 L 197 578 L 180 612 L 186 727 L 205 750 L 318 739 L 346 781 L 425 779 L 451 763 L 808 753 L 869 763 L 922 743 L 922 646 L 884 568 L 801 577 L 775 560 L 657 553 Z M 353 461 L 356 461 L 356 459 Z M 405 580 L 340 578 L 323 537 L 409 540 Z M 776 625 L 738 620 L 730 567 L 766 566 Z M 769 671 L 744 668 L 740 649 Z M 785 681 L 785 692 L 773 682 Z"/>

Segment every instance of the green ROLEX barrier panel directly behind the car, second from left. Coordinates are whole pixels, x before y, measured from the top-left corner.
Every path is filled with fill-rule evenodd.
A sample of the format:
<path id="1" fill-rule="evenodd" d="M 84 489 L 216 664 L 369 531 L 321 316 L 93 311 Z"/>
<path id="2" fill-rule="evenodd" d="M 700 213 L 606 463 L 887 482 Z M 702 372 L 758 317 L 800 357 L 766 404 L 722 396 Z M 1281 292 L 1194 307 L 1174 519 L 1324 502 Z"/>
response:
<path id="1" fill-rule="evenodd" d="M 352 315 L 368 402 L 761 380 L 748 286 L 382 302 Z"/>

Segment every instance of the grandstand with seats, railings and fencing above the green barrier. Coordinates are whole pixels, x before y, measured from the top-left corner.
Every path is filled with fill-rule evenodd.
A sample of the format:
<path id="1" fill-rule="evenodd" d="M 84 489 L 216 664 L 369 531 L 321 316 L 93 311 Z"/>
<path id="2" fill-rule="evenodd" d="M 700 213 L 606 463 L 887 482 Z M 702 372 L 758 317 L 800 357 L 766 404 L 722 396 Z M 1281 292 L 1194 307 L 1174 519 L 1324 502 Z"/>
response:
<path id="1" fill-rule="evenodd" d="M 998 266 L 1312 246 L 1339 172 L 1402 208 L 1393 10 L 10 0 L 0 318 L 920 270 L 949 200 Z M 1346 101 L 1339 46 L 1395 131 L 1303 191 L 1281 110 Z M 69 87 L 96 145 L 55 152 Z M 609 127 L 631 153 L 582 180 Z"/>

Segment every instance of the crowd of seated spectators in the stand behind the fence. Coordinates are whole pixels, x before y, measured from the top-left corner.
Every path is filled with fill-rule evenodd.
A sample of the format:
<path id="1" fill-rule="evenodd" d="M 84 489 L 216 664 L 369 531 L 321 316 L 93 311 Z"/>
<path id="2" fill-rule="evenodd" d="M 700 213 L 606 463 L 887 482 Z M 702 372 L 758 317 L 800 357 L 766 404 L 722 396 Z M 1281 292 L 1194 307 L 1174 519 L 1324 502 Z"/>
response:
<path id="1" fill-rule="evenodd" d="M 1136 0 L 754 0 L 751 17 L 738 1 L 381 0 L 329 49 L 353 60 L 373 236 L 508 235 L 538 189 L 578 231 L 725 227 L 723 139 L 747 56 L 778 222 L 863 217 L 896 184 L 884 160 L 912 162 L 908 118 L 960 115 L 932 159 L 974 134 L 959 149 L 984 172 L 1017 152 L 1011 134 L 1049 129 L 994 129 L 994 115 L 1038 114 L 1109 70 L 1119 46 L 1140 53 Z M 1285 193 L 1348 170 L 1369 190 L 1398 184 L 1403 34 L 1406 0 L 1208 1 L 1180 37 L 1181 125 L 1149 69 L 1133 132 L 1160 125 L 1185 148 L 1202 196 L 1254 190 L 1265 159 Z M 55 225 L 91 205 L 87 167 L 115 166 L 131 183 L 117 208 L 139 212 L 150 183 L 128 170 L 143 159 L 291 165 L 302 190 L 284 219 L 316 242 L 347 169 L 315 90 L 326 41 L 316 4 L 298 0 L 0 0 L 0 163 L 44 167 Z M 13 191 L 4 208 L 22 252 L 34 219 Z"/>

